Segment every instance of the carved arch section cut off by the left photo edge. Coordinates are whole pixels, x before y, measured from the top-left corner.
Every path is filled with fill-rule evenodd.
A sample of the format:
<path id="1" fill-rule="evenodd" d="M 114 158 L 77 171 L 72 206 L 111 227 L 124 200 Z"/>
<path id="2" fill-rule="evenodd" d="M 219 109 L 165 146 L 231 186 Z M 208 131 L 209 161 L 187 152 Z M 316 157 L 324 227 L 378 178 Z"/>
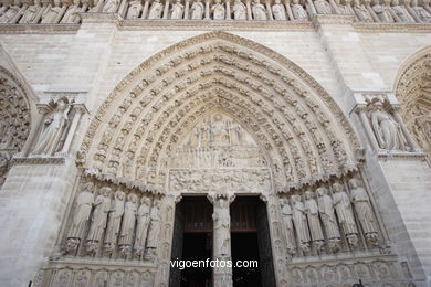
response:
<path id="1" fill-rule="evenodd" d="M 9 161 L 22 149 L 30 132 L 30 105 L 23 86 L 0 67 L 0 187 Z"/>

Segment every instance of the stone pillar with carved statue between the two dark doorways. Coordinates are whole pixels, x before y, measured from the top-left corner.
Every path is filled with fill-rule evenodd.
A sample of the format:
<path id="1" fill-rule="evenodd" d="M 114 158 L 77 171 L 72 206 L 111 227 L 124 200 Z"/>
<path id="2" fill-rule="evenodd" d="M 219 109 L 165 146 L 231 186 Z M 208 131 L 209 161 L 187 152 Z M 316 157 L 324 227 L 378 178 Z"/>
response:
<path id="1" fill-rule="evenodd" d="M 214 287 L 232 286 L 232 267 L 224 266 L 227 261 L 232 261 L 231 256 L 231 216 L 229 205 L 235 195 L 217 193 L 208 195 L 214 205 L 212 219 L 214 221 L 212 253 L 214 261 L 222 262 L 213 269 Z"/>

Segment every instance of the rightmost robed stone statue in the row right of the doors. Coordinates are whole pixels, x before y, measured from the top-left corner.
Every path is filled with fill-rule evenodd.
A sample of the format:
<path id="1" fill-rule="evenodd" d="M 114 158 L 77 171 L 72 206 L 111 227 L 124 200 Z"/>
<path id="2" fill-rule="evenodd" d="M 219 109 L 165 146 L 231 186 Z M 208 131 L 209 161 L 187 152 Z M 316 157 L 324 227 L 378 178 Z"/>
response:
<path id="1" fill-rule="evenodd" d="M 378 231 L 375 213 L 366 190 L 358 185 L 356 179 L 349 180 L 350 198 L 354 203 L 360 226 L 362 227 L 367 242 L 371 245 L 378 245 Z"/>

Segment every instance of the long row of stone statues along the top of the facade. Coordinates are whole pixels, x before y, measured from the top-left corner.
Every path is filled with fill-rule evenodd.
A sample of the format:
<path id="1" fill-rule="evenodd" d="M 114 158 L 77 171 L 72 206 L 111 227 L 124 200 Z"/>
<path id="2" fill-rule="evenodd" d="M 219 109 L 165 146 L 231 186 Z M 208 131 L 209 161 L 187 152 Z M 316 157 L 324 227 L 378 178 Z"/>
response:
<path id="1" fill-rule="evenodd" d="M 0 7 L 0 23 L 78 23 L 80 13 L 119 13 L 130 20 L 309 21 L 314 14 L 346 14 L 359 22 L 431 22 L 429 3 L 418 0 L 98 0 L 73 2 L 9 0 Z"/>

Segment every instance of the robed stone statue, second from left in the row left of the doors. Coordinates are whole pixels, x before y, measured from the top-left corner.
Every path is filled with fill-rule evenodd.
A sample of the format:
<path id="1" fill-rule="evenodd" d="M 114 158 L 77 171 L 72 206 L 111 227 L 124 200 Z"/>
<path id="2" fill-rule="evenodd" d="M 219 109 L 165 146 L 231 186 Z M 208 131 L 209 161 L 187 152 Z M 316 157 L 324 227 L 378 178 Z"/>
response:
<path id="1" fill-rule="evenodd" d="M 111 188 L 101 189 L 101 194 L 94 201 L 92 224 L 87 236 L 87 252 L 95 254 L 98 243 L 102 241 L 103 232 L 106 228 L 108 212 L 111 210 Z"/>

